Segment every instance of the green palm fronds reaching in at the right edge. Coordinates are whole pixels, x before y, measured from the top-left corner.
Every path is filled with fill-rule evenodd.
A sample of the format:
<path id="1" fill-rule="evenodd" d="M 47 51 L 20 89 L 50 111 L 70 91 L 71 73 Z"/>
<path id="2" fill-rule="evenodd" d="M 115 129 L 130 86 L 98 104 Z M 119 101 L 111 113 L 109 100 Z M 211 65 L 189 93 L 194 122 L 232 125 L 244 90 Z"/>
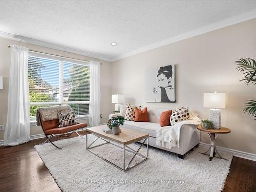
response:
<path id="1" fill-rule="evenodd" d="M 238 59 L 234 63 L 237 64 L 238 71 L 242 72 L 245 75 L 244 79 L 240 81 L 244 81 L 247 86 L 249 83 L 256 84 L 256 61 L 251 58 L 242 58 Z M 253 117 L 256 117 L 256 100 L 248 100 L 245 102 L 246 108 L 243 110 L 244 113 L 248 113 Z M 256 119 L 254 119 L 256 121 Z"/>

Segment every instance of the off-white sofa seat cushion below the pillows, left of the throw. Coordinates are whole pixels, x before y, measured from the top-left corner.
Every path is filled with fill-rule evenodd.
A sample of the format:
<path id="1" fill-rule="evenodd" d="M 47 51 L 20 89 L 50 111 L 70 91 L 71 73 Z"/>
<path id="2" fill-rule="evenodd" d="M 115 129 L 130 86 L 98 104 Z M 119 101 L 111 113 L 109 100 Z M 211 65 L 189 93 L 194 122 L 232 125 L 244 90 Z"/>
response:
<path id="1" fill-rule="evenodd" d="M 123 127 L 127 129 L 147 133 L 151 137 L 156 137 L 156 131 L 161 128 L 158 123 L 151 122 L 135 122 L 135 121 L 124 121 Z"/>

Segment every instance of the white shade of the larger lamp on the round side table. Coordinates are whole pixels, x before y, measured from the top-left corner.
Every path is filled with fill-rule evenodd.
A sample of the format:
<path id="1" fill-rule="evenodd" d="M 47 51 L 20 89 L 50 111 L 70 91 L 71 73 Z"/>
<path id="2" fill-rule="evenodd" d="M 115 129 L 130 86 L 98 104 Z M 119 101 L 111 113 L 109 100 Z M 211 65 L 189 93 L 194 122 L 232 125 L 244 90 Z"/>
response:
<path id="1" fill-rule="evenodd" d="M 226 93 L 204 93 L 204 108 L 226 108 Z"/>

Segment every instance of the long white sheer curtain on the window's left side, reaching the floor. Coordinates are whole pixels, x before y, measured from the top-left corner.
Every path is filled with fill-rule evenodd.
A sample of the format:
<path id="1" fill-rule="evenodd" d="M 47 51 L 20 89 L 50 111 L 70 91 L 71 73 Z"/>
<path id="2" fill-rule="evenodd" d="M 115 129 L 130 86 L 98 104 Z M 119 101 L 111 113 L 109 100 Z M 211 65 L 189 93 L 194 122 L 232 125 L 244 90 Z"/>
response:
<path id="1" fill-rule="evenodd" d="M 28 48 L 12 45 L 4 146 L 28 142 L 29 134 Z"/>

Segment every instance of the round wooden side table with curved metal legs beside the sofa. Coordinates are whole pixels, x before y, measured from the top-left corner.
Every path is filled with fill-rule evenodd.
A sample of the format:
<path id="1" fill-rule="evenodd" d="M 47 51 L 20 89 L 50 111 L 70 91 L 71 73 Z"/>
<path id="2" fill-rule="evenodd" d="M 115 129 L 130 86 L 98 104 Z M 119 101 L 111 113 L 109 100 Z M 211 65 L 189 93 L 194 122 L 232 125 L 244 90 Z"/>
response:
<path id="1" fill-rule="evenodd" d="M 202 132 L 207 132 L 210 137 L 210 148 L 206 152 L 201 153 L 201 154 L 207 155 L 206 153 L 208 151 L 210 151 L 209 161 L 211 161 L 212 158 L 217 157 L 216 154 L 219 155 L 219 157 L 217 157 L 217 158 L 225 159 L 225 158 L 221 157 L 221 155 L 218 153 L 218 151 L 216 149 L 215 141 L 216 141 L 216 138 L 218 137 L 218 135 L 230 133 L 231 132 L 230 129 L 223 127 L 223 126 L 220 129 L 204 129 L 201 124 L 197 126 L 197 129 Z M 227 159 L 225 159 L 225 160 L 227 160 Z"/>

